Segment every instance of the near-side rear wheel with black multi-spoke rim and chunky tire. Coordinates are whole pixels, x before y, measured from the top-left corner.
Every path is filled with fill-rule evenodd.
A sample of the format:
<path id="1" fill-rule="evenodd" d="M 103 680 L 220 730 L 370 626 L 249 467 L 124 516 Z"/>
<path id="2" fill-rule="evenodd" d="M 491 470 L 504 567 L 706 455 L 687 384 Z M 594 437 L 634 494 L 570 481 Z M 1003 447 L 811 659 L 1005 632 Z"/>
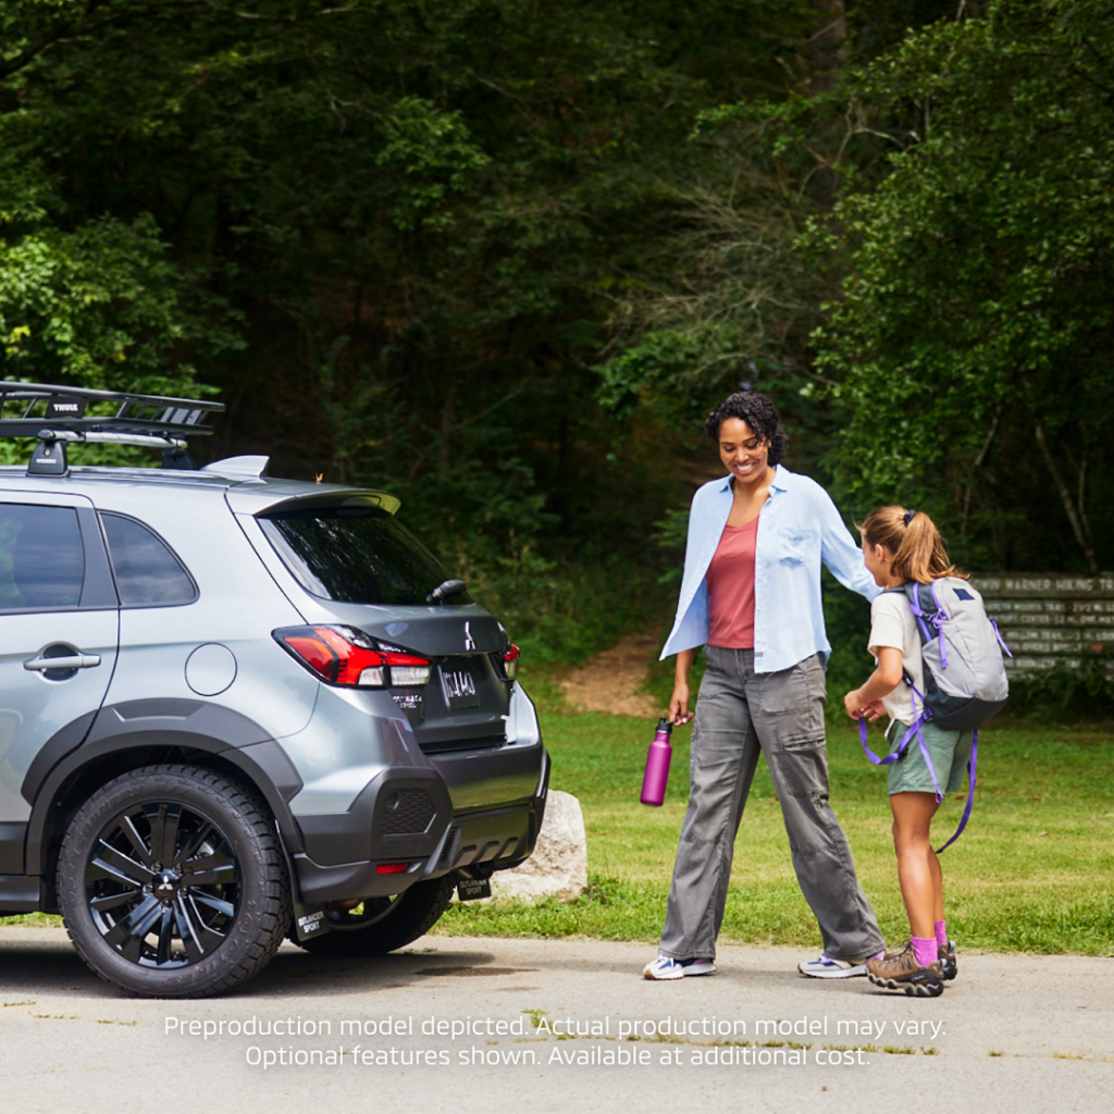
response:
<path id="1" fill-rule="evenodd" d="M 257 975 L 292 916 L 266 805 L 189 765 L 133 770 L 86 801 L 62 841 L 58 903 L 102 979 L 158 998 L 221 994 Z"/>

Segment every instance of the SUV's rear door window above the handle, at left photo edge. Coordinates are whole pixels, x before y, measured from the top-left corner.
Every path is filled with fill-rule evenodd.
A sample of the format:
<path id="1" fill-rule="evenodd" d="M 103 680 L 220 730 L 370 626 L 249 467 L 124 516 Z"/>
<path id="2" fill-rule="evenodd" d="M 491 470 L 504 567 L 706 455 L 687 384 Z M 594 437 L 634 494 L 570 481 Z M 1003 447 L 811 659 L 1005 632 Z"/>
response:
<path id="1" fill-rule="evenodd" d="M 0 609 L 77 607 L 84 582 L 85 546 L 72 507 L 0 504 Z"/>

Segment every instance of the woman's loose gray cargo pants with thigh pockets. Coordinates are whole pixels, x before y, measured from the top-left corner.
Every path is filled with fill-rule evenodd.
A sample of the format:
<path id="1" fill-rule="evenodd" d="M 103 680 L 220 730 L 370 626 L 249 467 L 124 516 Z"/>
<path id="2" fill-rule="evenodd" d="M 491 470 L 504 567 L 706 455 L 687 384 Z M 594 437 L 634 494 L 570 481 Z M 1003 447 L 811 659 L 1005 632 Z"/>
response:
<path id="1" fill-rule="evenodd" d="M 874 911 L 828 803 L 823 655 L 780 673 L 755 673 L 752 649 L 707 646 L 705 657 L 688 811 L 681 825 L 662 955 L 715 956 L 735 836 L 760 750 L 781 802 L 797 880 L 820 922 L 824 955 L 861 959 L 881 950 Z"/>

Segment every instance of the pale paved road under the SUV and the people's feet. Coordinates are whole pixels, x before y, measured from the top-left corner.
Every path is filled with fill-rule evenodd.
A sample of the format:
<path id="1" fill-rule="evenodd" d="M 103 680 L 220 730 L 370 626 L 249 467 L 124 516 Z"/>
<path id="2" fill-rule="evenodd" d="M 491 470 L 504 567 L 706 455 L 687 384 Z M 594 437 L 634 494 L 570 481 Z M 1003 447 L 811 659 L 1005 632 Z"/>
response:
<path id="1" fill-rule="evenodd" d="M 647 958 L 644 945 L 595 940 L 437 936 L 362 962 L 285 946 L 234 996 L 152 1001 L 98 981 L 61 929 L 0 927 L 3 1105 L 1114 1110 L 1114 959 L 960 952 L 941 998 L 909 999 L 801 978 L 789 949 L 724 948 L 720 974 L 672 984 L 638 977 Z"/>

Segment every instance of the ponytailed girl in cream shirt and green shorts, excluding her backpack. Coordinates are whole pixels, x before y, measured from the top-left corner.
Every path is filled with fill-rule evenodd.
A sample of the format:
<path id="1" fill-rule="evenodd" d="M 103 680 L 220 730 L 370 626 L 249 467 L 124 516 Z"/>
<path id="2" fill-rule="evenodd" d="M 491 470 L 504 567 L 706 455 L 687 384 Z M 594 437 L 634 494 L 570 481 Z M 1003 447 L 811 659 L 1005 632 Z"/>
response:
<path id="1" fill-rule="evenodd" d="M 882 507 L 868 516 L 859 531 L 863 560 L 881 588 L 899 588 L 910 580 L 931 584 L 944 576 L 967 579 L 949 563 L 939 531 L 924 511 Z M 883 592 L 871 603 L 869 649 L 877 668 L 843 703 L 854 720 L 889 716 L 886 737 L 892 753 L 920 712 L 913 706 L 913 688 L 925 691 L 920 635 L 903 592 Z M 902 683 L 906 675 L 913 688 Z M 971 732 L 942 731 L 930 722 L 920 731 L 942 790 L 955 792 L 970 754 Z M 916 740 L 890 765 L 889 792 L 898 880 L 911 939 L 903 951 L 869 960 L 867 975 L 877 986 L 935 998 L 944 991 L 945 979 L 955 978 L 956 958 L 945 928 L 940 861 L 929 841 L 939 803 L 932 773 Z"/>

